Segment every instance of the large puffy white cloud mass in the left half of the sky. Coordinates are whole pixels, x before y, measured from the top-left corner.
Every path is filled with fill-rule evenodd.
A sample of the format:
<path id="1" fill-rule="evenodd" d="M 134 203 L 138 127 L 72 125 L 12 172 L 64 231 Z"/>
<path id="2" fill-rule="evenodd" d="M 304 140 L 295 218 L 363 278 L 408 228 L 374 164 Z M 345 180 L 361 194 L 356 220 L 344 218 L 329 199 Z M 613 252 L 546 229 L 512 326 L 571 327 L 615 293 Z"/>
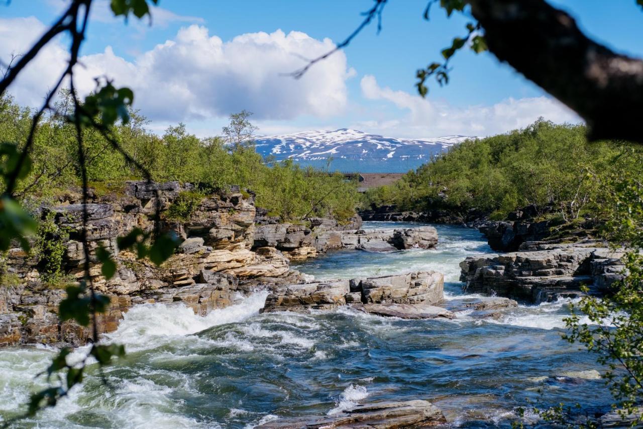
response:
<path id="1" fill-rule="evenodd" d="M 0 19 L 0 37 L 8 42 L 0 46 L 0 59 L 6 63 L 12 52 L 26 52 L 44 28 L 33 17 Z M 258 120 L 329 117 L 345 109 L 345 82 L 354 75 L 343 52 L 316 64 L 301 79 L 284 73 L 333 47 L 330 39 L 281 30 L 222 41 L 193 24 L 132 61 L 109 46 L 102 53 L 81 57 L 77 87 L 86 93 L 93 89 L 95 77 L 114 79 L 116 86 L 134 90 L 135 108 L 152 120 L 203 120 L 242 109 L 255 113 Z M 52 44 L 10 92 L 21 103 L 38 104 L 67 58 L 64 45 Z"/>

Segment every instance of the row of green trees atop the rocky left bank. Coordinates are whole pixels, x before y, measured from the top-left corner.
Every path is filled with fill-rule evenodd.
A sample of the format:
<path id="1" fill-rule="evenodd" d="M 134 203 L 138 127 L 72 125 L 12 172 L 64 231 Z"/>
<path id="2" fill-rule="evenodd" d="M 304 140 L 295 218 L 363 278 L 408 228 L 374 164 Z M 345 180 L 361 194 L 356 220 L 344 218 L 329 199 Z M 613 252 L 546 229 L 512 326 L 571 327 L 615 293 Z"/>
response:
<path id="1" fill-rule="evenodd" d="M 118 119 L 109 127 L 109 134 L 132 160 L 123 158 L 105 140 L 100 129 L 84 126 L 87 176 L 98 192 L 107 193 L 122 188 L 126 180 L 144 178 L 138 164 L 147 169 L 154 180 L 190 182 L 197 185 L 201 193 L 226 190 L 231 185 L 251 189 L 257 195 L 258 206 L 283 220 L 297 221 L 306 215 L 346 220 L 354 215 L 359 200 L 355 183 L 346 182 L 343 176 L 330 171 L 302 168 L 290 161 L 264 160 L 254 149 L 255 127 L 249 122 L 247 111 L 231 115 L 223 137 L 197 138 L 184 124 L 167 128 L 159 137 L 145 129 L 148 121 L 140 112 L 127 109 L 127 97 L 117 96 L 120 90 L 111 86 L 98 93 L 101 91 L 106 95 L 97 99 L 88 97 L 90 101 L 86 99 L 82 107 L 93 112 L 96 118 L 109 108 L 107 117 L 99 122 Z M 113 104 L 114 100 L 120 101 Z M 88 104 L 100 108 L 90 108 Z M 23 196 L 46 198 L 63 192 L 70 183 L 81 182 L 76 130 L 69 122 L 73 118 L 73 93 L 63 91 L 56 108 L 60 115 L 42 120 L 35 133 L 33 168 L 18 184 Z M 0 140 L 26 138 L 29 122 L 29 115 L 10 97 L 0 99 Z M 247 193 L 246 198 L 249 198 Z M 185 220 L 189 210 L 186 212 L 188 207 L 181 206 L 191 204 L 179 200 L 170 209 L 168 218 Z"/>

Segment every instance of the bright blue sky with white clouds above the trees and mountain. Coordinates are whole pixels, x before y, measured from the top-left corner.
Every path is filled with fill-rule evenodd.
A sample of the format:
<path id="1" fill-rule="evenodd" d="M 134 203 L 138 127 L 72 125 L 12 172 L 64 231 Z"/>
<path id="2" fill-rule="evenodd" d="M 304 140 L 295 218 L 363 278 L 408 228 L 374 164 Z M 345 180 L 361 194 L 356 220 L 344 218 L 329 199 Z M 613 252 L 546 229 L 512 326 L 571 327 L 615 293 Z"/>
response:
<path id="1" fill-rule="evenodd" d="M 484 137 L 529 125 L 538 117 L 581 122 L 574 112 L 490 53 L 463 50 L 451 81 L 430 82 L 422 99 L 415 71 L 440 59 L 469 19 L 438 7 L 422 19 L 427 0 L 390 0 L 375 25 L 301 79 L 289 73 L 347 37 L 372 0 L 159 0 L 152 20 L 115 18 L 95 0 L 78 66 L 78 88 L 96 77 L 134 90 L 134 108 L 163 133 L 184 122 L 199 137 L 221 133 L 228 115 L 253 112 L 260 135 L 353 128 L 387 137 Z M 0 1 L 0 61 L 23 53 L 46 31 L 67 0 Z M 643 11 L 635 0 L 550 0 L 593 39 L 643 56 Z M 37 106 L 63 70 L 61 37 L 24 70 L 10 92 Z"/>

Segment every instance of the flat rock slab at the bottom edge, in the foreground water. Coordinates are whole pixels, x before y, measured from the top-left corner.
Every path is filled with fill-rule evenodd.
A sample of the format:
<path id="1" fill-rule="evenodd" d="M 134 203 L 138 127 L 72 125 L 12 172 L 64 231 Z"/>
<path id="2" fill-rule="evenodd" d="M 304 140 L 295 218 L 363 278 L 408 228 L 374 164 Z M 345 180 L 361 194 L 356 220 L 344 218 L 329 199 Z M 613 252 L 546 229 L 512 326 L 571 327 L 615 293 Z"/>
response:
<path id="1" fill-rule="evenodd" d="M 437 406 L 428 401 L 388 402 L 358 405 L 336 415 L 305 416 L 279 419 L 260 424 L 257 428 L 425 428 L 446 423 Z"/>

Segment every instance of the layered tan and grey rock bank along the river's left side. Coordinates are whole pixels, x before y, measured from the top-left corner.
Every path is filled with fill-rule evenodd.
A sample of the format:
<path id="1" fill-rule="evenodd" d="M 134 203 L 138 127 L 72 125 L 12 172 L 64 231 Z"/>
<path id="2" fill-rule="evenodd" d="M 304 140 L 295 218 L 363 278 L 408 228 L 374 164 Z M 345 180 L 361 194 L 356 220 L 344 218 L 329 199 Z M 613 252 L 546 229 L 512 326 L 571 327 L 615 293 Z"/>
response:
<path id="1" fill-rule="evenodd" d="M 178 182 L 128 182 L 118 193 L 93 195 L 87 205 L 90 275 L 95 289 L 111 300 L 107 311 L 97 318 L 99 333 L 115 330 L 123 312 L 140 303 L 181 302 L 203 315 L 228 307 L 239 292 L 304 283 L 305 278 L 291 270 L 291 260 L 333 249 L 395 251 L 429 248 L 437 243 L 433 227 L 363 230 L 359 229 L 359 216 L 347 224 L 323 218 L 307 219 L 301 225 L 278 224 L 255 207 L 251 193 L 240 189 L 204 197 L 183 220 L 169 218 L 172 204 L 191 190 L 189 184 Z M 79 200 L 80 195 L 70 192 L 62 196 L 60 204 L 41 209 L 43 217 L 50 216 L 57 227 L 69 234 L 62 243 L 64 281 L 51 284 L 42 275 L 39 257 L 19 248 L 11 249 L 3 258 L 0 345 L 80 345 L 91 338 L 89 329 L 69 321 L 61 323 L 57 316 L 59 303 L 66 296 L 64 287 L 83 276 L 83 205 Z M 160 220 L 155 216 L 157 205 Z M 174 231 L 183 243 L 174 256 L 156 267 L 147 260 L 138 260 L 135 254 L 118 250 L 116 238 L 132 227 Z M 100 275 L 100 265 L 96 263 L 99 245 L 112 251 L 118 264 L 116 275 L 109 281 Z"/>

